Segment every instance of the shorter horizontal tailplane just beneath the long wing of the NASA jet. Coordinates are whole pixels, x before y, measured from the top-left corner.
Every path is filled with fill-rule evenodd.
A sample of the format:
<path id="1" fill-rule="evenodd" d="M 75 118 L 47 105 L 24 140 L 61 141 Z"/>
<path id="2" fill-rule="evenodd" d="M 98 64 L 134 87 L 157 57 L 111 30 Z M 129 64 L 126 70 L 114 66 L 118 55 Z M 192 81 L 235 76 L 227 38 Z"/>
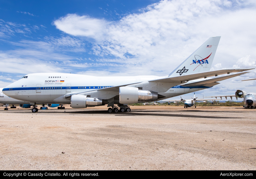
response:
<path id="1" fill-rule="evenodd" d="M 198 81 L 198 82 L 194 82 L 194 83 L 186 83 L 183 84 L 181 86 L 187 86 L 187 87 L 193 87 L 193 86 L 207 86 L 207 87 L 212 87 L 214 85 L 217 85 L 219 83 L 217 83 L 217 81 L 222 81 L 225 79 L 229 79 L 235 76 L 240 76 L 246 73 L 250 73 L 250 72 L 243 72 L 243 73 L 238 73 L 238 74 L 234 74 L 234 75 L 229 75 L 229 76 L 222 76 L 222 77 L 218 77 L 218 78 L 213 78 L 213 79 L 207 79 L 207 80 L 203 80 L 203 81 Z"/>

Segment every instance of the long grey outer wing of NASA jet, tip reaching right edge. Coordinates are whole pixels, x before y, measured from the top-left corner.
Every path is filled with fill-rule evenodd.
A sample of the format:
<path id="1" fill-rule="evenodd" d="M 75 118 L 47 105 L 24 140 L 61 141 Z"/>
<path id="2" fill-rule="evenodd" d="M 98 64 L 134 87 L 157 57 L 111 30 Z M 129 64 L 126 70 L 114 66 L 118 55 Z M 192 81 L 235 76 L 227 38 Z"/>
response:
<path id="1" fill-rule="evenodd" d="M 194 79 L 206 78 L 209 76 L 218 76 L 223 74 L 230 74 L 235 72 L 243 72 L 247 70 L 253 70 L 255 68 L 226 68 L 222 70 L 214 70 L 214 71 L 207 71 L 201 73 L 194 73 L 190 75 L 182 75 L 182 76 L 175 76 L 175 77 L 168 77 L 163 79 L 156 79 L 151 80 L 150 82 L 162 82 L 162 83 L 182 83 L 185 81 L 190 81 Z"/>

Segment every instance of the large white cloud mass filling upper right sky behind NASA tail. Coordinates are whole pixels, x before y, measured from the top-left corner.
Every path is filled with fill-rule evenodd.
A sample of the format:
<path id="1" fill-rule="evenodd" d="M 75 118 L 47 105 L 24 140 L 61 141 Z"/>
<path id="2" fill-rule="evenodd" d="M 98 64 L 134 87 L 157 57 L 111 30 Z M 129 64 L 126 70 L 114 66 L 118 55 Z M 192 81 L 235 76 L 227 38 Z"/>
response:
<path id="1" fill-rule="evenodd" d="M 256 55 L 255 15 L 253 1 L 165 0 L 119 21 L 67 14 L 53 24 L 93 39 L 92 54 L 120 59 L 126 70 L 136 66 L 136 74 L 166 75 L 210 36 L 222 36 L 213 64 L 232 67 L 241 55 Z"/>

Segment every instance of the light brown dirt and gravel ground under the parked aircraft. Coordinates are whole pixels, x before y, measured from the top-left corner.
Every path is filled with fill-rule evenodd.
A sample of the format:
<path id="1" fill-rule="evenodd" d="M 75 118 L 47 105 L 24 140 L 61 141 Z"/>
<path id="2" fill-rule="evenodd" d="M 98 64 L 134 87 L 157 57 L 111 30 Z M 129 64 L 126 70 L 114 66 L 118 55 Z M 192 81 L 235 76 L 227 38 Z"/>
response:
<path id="1" fill-rule="evenodd" d="M 65 107 L 0 107 L 0 170 L 256 170 L 256 109 Z"/>

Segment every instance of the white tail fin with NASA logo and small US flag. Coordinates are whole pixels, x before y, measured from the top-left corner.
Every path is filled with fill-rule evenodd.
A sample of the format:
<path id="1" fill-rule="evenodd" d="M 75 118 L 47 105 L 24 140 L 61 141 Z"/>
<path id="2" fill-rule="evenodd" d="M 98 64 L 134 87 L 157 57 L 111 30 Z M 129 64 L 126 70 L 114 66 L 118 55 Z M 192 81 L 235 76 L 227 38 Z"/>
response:
<path id="1" fill-rule="evenodd" d="M 210 37 L 172 73 L 170 73 L 168 77 L 209 71 L 219 42 L 220 36 Z"/>

